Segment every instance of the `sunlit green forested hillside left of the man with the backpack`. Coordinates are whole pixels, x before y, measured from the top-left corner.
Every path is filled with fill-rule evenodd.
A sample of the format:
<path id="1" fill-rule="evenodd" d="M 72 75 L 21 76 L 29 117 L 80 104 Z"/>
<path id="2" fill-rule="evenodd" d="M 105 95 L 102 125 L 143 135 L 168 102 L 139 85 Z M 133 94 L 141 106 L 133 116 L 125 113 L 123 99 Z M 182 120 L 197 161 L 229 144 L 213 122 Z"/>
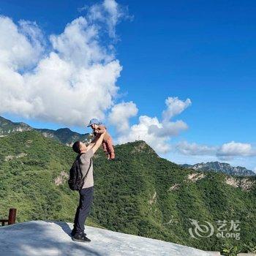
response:
<path id="1" fill-rule="evenodd" d="M 72 149 L 38 132 L 0 138 L 0 214 L 18 208 L 18 221 L 70 219 L 76 196 L 55 178 L 67 172 Z"/>

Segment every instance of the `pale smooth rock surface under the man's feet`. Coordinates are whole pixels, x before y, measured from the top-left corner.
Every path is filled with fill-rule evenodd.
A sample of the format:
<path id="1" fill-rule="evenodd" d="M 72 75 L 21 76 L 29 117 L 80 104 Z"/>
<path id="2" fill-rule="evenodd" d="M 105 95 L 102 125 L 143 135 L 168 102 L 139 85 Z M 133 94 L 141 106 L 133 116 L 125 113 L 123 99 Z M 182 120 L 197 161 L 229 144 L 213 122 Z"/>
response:
<path id="1" fill-rule="evenodd" d="M 72 241 L 72 224 L 31 221 L 0 227 L 1 256 L 168 255 L 210 256 L 208 252 L 157 239 L 86 226 L 90 243 Z"/>

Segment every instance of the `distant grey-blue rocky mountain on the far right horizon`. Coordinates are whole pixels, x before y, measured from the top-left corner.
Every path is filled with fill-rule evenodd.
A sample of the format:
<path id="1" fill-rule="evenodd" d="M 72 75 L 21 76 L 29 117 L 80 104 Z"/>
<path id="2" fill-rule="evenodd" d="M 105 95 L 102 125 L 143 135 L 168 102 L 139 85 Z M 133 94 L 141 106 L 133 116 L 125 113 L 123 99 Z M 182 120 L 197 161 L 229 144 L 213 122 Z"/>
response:
<path id="1" fill-rule="evenodd" d="M 199 164 L 195 165 L 181 165 L 185 168 L 192 168 L 194 170 L 200 170 L 200 171 L 216 171 L 219 173 L 226 173 L 228 175 L 236 175 L 236 176 L 255 176 L 256 173 L 254 173 L 252 170 L 247 170 L 246 167 L 233 167 L 230 164 L 227 164 L 226 162 L 201 162 Z"/>

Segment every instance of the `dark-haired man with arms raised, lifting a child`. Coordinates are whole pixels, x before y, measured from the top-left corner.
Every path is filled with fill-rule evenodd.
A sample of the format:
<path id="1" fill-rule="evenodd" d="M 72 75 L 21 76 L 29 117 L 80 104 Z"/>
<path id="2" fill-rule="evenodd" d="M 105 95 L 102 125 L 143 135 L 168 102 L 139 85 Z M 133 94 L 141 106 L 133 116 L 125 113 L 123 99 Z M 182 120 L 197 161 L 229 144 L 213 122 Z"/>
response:
<path id="1" fill-rule="evenodd" d="M 79 164 L 83 176 L 88 172 L 83 187 L 79 191 L 79 206 L 75 213 L 74 228 L 71 233 L 73 241 L 91 241 L 86 237 L 86 233 L 84 233 L 84 223 L 86 222 L 86 217 L 88 217 L 91 210 L 94 193 L 93 163 L 91 158 L 99 146 L 102 145 L 104 135 L 105 131 L 96 140 L 90 143 L 89 146 L 86 146 L 85 143 L 80 141 L 76 141 L 72 146 L 73 150 L 80 155 Z"/>

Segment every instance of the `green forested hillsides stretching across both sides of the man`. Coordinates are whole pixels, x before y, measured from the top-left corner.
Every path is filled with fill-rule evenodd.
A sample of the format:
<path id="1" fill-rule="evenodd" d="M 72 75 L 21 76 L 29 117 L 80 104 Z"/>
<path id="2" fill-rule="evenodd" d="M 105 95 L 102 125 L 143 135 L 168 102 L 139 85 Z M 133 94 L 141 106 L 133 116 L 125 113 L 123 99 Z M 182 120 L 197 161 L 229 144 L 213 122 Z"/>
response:
<path id="1" fill-rule="evenodd" d="M 199 173 L 162 159 L 143 141 L 116 146 L 116 161 L 94 156 L 94 206 L 89 224 L 200 249 L 256 244 L 255 177 Z M 72 222 L 78 192 L 67 186 L 72 148 L 38 132 L 0 138 L 0 216 L 12 206 L 18 221 Z M 190 219 L 239 220 L 240 240 L 192 238 Z"/>

